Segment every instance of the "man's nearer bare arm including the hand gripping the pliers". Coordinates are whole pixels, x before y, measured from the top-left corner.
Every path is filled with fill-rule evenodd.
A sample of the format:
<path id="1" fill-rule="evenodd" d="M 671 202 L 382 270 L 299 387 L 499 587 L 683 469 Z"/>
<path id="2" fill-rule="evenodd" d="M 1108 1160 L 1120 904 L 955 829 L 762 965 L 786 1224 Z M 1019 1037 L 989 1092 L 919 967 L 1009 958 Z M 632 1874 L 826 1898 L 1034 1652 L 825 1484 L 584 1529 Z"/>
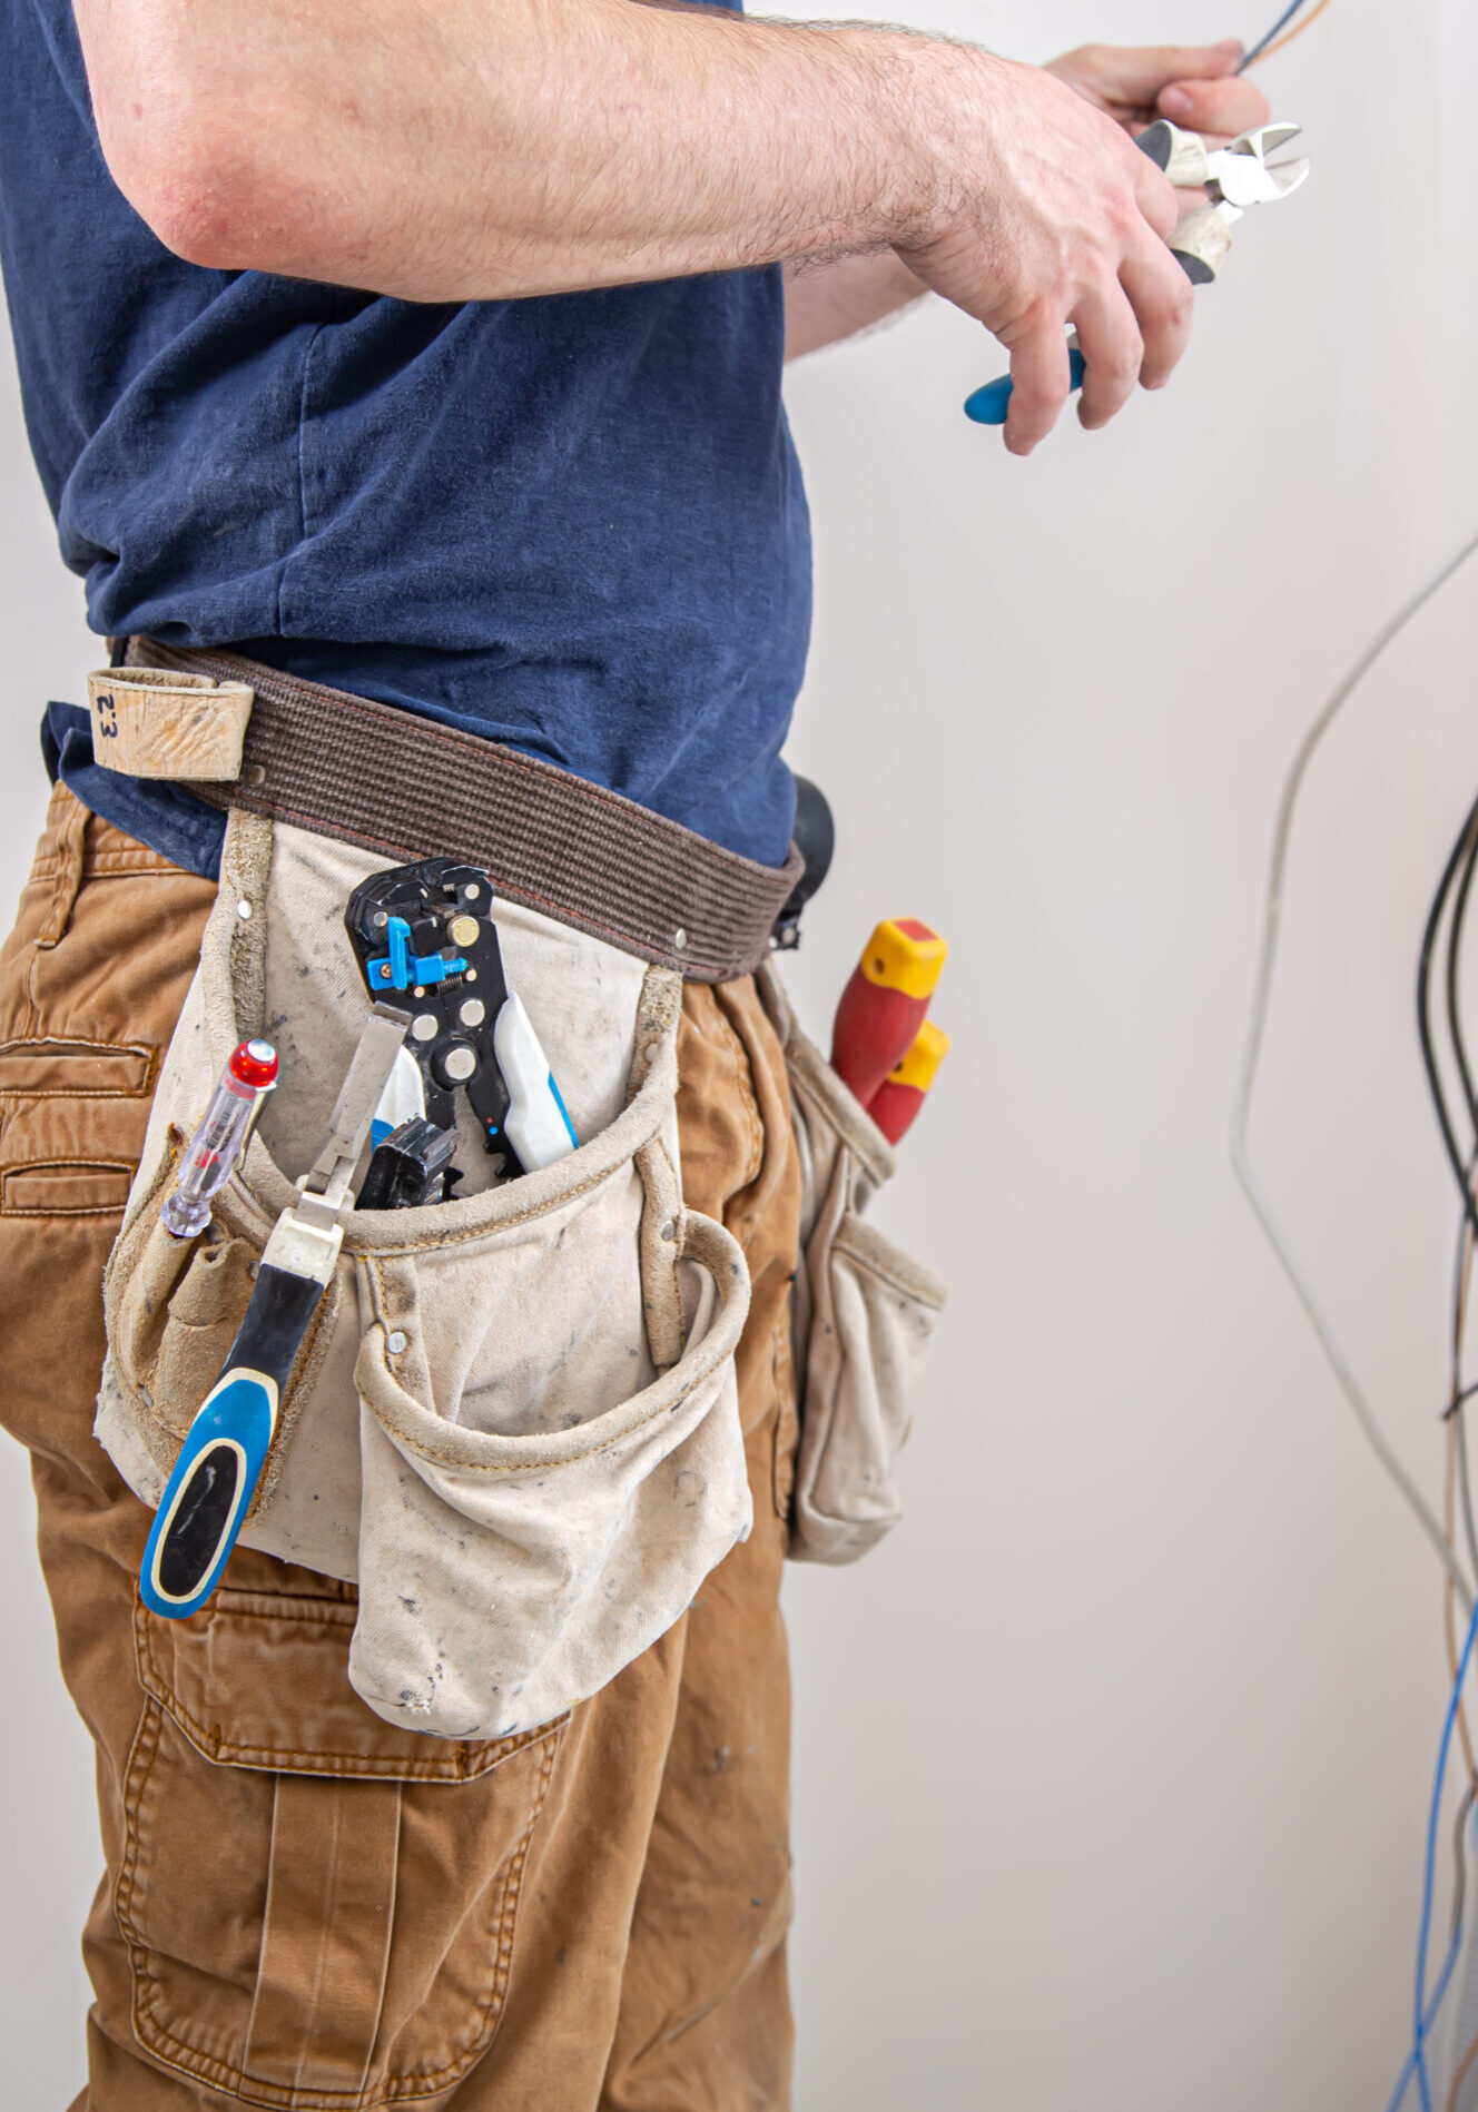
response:
<path id="1" fill-rule="evenodd" d="M 1185 348 L 1170 184 L 1041 68 L 631 0 L 74 0 L 108 165 L 179 256 L 507 300 L 895 249 L 1011 353 L 1020 454 Z"/>

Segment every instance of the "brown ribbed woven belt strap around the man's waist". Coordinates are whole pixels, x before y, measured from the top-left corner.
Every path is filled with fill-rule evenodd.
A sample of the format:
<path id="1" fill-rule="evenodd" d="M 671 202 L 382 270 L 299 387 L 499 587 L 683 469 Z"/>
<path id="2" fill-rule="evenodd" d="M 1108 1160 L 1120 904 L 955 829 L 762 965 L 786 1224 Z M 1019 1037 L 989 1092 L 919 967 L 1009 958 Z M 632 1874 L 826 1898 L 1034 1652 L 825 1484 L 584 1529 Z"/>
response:
<path id="1" fill-rule="evenodd" d="M 190 784 L 213 807 L 296 822 L 397 864 L 484 866 L 511 902 L 693 982 L 752 974 L 800 879 L 739 857 L 665 815 L 475 733 L 239 659 L 129 640 L 129 667 L 249 682 L 234 784 Z"/>

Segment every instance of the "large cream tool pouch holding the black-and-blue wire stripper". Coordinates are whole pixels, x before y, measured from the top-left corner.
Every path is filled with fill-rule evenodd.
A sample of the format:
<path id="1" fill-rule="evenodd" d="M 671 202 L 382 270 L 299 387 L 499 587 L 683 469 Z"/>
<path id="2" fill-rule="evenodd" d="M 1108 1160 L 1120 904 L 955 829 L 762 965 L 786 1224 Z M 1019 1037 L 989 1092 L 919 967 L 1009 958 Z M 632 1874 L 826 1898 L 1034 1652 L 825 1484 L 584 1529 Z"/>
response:
<path id="1" fill-rule="evenodd" d="M 367 1010 L 342 910 L 386 864 L 230 815 L 106 1278 L 97 1434 L 144 1502 L 325 1134 Z M 585 1143 L 505 1187 L 346 1217 L 241 1535 L 357 1582 L 348 1677 L 378 1715 L 481 1740 L 602 1687 L 750 1529 L 733 1375 L 747 1276 L 682 1206 L 680 978 L 534 910 L 500 904 L 498 931 Z M 255 1033 L 283 1086 L 211 1233 L 175 1242 L 158 1212 L 177 1155 Z"/>

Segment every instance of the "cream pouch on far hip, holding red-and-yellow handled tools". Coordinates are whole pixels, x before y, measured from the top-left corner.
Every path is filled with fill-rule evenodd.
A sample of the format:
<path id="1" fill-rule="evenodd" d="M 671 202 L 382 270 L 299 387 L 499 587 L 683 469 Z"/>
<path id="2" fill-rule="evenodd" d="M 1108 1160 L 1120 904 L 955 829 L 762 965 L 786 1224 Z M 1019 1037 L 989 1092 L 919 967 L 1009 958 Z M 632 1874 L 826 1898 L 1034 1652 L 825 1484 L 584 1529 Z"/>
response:
<path id="1" fill-rule="evenodd" d="M 893 1176 L 893 1149 L 800 1033 L 775 972 L 760 980 L 785 1048 L 802 1170 L 790 1552 L 851 1563 L 902 1514 L 897 1453 L 946 1293 L 933 1269 L 866 1223 L 864 1208 Z"/>

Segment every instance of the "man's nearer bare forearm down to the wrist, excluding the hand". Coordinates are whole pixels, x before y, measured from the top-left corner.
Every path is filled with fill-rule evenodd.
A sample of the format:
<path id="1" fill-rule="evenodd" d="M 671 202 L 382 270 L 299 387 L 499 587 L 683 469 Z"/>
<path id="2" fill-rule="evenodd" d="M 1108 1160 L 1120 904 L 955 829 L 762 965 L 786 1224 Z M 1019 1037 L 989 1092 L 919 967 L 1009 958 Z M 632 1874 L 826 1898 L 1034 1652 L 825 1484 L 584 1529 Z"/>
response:
<path id="1" fill-rule="evenodd" d="M 203 264 L 560 294 L 923 237 L 937 188 L 925 38 L 629 0 L 76 13 L 114 173 Z"/>

